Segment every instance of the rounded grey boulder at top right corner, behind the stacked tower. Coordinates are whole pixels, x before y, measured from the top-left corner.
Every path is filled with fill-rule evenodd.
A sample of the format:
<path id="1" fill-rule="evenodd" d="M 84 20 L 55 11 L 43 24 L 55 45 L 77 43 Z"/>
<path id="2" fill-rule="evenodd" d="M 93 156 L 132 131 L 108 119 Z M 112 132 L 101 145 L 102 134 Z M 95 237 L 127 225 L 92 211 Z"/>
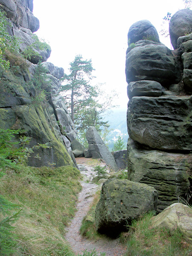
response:
<path id="1" fill-rule="evenodd" d="M 169 34 L 174 49 L 177 49 L 177 39 L 192 32 L 192 10 L 177 11 L 169 22 Z"/>

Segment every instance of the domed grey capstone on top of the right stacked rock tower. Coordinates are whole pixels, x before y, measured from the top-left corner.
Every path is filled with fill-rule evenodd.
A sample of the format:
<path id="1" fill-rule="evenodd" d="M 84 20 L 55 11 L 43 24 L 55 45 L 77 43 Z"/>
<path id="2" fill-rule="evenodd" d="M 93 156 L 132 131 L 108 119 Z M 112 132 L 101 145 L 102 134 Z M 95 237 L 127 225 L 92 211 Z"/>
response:
<path id="1" fill-rule="evenodd" d="M 160 42 L 156 28 L 148 20 L 137 21 L 128 31 L 128 44 L 136 43 L 142 39 Z"/>

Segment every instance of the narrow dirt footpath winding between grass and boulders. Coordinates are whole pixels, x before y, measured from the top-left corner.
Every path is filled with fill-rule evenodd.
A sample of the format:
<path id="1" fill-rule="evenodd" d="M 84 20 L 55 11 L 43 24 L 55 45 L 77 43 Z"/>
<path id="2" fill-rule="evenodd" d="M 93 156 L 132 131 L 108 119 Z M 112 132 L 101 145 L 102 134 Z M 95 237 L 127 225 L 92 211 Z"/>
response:
<path id="1" fill-rule="evenodd" d="M 125 246 L 120 244 L 119 239 L 106 238 L 92 241 L 82 237 L 79 233 L 81 222 L 87 214 L 90 204 L 93 201 L 93 195 L 99 189 L 99 186 L 91 183 L 91 179 L 95 176 L 95 173 L 92 171 L 93 166 L 90 165 L 90 159 L 79 157 L 76 158 L 76 160 L 78 165 L 84 165 L 87 170 L 81 171 L 81 174 L 84 175 L 84 179 L 81 181 L 82 190 L 79 193 L 76 206 L 77 212 L 72 219 L 70 226 L 67 228 L 65 238 L 70 243 L 76 255 L 78 255 L 78 253 L 81 254 L 85 249 L 91 251 L 95 248 L 98 253 L 106 253 L 106 256 L 122 256 L 125 253 Z M 104 166 L 105 163 L 100 165 Z M 87 183 L 86 180 L 89 180 L 89 183 Z"/>

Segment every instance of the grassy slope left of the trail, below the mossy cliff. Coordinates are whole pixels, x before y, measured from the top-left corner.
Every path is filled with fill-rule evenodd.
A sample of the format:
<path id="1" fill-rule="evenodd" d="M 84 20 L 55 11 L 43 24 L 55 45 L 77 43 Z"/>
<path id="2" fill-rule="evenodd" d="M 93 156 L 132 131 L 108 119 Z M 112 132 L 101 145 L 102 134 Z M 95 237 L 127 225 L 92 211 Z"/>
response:
<path id="1" fill-rule="evenodd" d="M 80 172 L 72 166 L 58 168 L 18 166 L 6 168 L 0 192 L 22 208 L 12 224 L 15 250 L 12 256 L 74 256 L 64 239 L 65 227 L 76 211 L 81 189 Z M 15 209 L 6 212 L 11 216 Z M 5 218 L 0 212 L 0 220 Z M 5 254 L 6 255 L 6 254 Z"/>

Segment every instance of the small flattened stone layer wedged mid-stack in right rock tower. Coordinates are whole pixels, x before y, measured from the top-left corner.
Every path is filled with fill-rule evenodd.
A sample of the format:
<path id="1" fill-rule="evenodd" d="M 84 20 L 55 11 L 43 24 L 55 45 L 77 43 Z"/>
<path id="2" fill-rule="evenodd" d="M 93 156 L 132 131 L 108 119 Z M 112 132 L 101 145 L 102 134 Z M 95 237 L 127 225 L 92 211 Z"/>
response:
<path id="1" fill-rule="evenodd" d="M 129 99 L 134 96 L 158 97 L 164 90 L 163 86 L 156 81 L 140 80 L 128 84 L 127 95 Z"/>

